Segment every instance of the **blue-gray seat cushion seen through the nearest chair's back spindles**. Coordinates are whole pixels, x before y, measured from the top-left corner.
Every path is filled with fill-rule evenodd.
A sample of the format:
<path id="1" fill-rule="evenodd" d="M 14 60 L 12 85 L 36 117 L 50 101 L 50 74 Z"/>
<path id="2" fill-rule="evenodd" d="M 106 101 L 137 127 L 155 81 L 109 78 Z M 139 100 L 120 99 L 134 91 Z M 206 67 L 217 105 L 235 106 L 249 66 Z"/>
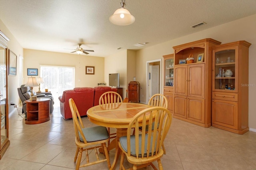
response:
<path id="1" fill-rule="evenodd" d="M 135 135 L 132 135 L 130 137 L 131 139 L 131 155 L 132 156 L 136 156 L 136 149 L 135 149 Z M 153 137 L 151 137 L 151 145 L 150 145 L 150 151 L 152 150 L 152 140 Z M 142 153 L 141 153 L 141 141 L 142 141 L 142 135 L 139 135 L 139 157 L 142 157 Z M 123 136 L 120 137 L 119 142 L 121 144 L 122 149 L 124 149 L 126 152 L 128 151 L 127 149 L 127 136 Z M 146 134 L 145 136 L 145 147 L 144 147 L 144 156 L 147 155 L 147 143 L 148 143 L 148 134 Z M 155 149 L 156 150 L 156 144 L 155 144 Z M 154 152 L 155 154 L 155 152 Z M 151 152 L 149 154 L 151 156 Z"/>

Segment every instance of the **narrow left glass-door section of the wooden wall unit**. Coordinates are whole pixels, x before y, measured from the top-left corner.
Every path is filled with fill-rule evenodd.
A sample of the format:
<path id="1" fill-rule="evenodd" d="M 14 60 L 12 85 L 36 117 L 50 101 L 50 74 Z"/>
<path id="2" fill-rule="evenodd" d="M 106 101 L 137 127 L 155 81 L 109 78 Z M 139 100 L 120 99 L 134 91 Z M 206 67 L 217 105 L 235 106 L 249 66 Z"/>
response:
<path id="1" fill-rule="evenodd" d="M 174 54 L 164 55 L 164 96 L 168 100 L 168 110 L 173 112 Z"/>

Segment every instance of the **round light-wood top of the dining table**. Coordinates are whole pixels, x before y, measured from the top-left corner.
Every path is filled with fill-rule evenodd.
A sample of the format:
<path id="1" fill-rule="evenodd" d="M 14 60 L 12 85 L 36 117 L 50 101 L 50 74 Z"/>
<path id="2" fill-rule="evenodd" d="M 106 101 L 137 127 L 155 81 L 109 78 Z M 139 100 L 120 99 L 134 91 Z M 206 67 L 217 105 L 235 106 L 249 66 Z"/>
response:
<path id="1" fill-rule="evenodd" d="M 96 125 L 127 128 L 131 119 L 148 107 L 150 106 L 138 103 L 103 104 L 88 109 L 87 116 Z"/>

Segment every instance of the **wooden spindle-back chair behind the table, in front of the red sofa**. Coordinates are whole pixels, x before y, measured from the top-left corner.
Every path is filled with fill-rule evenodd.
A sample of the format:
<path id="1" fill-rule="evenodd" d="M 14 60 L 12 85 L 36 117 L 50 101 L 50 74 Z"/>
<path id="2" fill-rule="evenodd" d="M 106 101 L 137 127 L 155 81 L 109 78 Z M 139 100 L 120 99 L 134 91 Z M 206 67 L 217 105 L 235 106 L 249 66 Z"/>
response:
<path id="1" fill-rule="evenodd" d="M 122 103 L 122 97 L 120 96 L 120 94 L 118 94 L 117 92 L 105 92 L 100 96 L 99 99 L 99 105 L 103 105 L 103 104 L 113 104 L 113 103 Z M 110 133 L 110 127 L 108 127 L 108 134 L 110 136 L 110 139 L 112 138 L 116 138 L 116 132 L 115 133 Z M 109 145 L 110 141 L 108 141 L 108 145 Z"/>

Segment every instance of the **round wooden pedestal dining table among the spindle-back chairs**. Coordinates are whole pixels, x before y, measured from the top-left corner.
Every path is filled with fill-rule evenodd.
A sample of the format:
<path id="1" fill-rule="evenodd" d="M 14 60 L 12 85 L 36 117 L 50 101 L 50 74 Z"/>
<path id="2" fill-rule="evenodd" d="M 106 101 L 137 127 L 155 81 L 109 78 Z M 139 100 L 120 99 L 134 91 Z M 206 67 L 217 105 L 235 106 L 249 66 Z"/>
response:
<path id="1" fill-rule="evenodd" d="M 139 103 L 103 104 L 91 107 L 87 111 L 88 119 L 96 125 L 116 128 L 116 139 L 108 145 L 108 150 L 116 148 L 114 162 L 110 170 L 116 168 L 121 150 L 118 147 L 119 138 L 127 135 L 127 128 L 131 119 L 143 109 L 150 106 Z"/>

